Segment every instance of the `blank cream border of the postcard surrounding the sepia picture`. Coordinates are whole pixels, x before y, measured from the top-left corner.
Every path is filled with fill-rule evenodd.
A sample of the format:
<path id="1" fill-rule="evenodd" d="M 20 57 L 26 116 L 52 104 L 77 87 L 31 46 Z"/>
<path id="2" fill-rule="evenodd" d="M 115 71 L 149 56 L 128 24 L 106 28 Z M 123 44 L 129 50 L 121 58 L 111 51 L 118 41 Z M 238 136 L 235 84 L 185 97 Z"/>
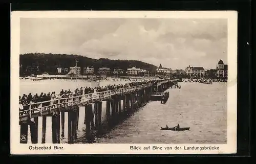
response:
<path id="1" fill-rule="evenodd" d="M 19 19 L 29 18 L 226 18 L 228 19 L 227 144 L 20 144 L 18 131 Z M 11 13 L 10 154 L 219 154 L 237 152 L 237 11 L 13 11 Z M 51 150 L 30 150 L 51 146 Z M 53 150 L 53 146 L 63 150 Z M 130 150 L 140 146 L 142 150 Z M 143 150 L 158 146 L 162 150 Z M 219 150 L 184 150 L 184 147 L 219 147 Z M 165 150 L 164 147 L 172 147 Z M 175 150 L 181 147 L 181 150 Z"/>

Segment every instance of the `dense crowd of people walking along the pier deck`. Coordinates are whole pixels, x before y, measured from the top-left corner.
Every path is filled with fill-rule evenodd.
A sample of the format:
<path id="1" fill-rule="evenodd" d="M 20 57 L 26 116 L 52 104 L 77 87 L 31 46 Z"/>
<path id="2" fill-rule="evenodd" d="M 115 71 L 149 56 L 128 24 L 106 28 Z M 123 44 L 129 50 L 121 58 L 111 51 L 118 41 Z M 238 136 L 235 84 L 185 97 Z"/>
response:
<path id="1" fill-rule="evenodd" d="M 115 90 L 119 88 L 127 88 L 127 87 L 132 87 L 132 86 L 138 86 L 138 85 L 143 85 L 143 84 L 148 84 L 148 83 L 158 83 L 163 80 L 148 80 L 148 81 L 135 81 L 135 82 L 129 82 L 126 84 L 109 84 L 107 86 L 98 86 L 95 88 L 91 87 L 81 87 L 80 89 L 76 88 L 73 92 L 68 89 L 68 90 L 63 90 L 57 94 L 55 91 L 48 92 L 48 93 L 43 93 L 41 92 L 40 95 L 36 93 L 35 95 L 32 95 L 29 93 L 28 95 L 23 94 L 23 96 L 19 96 L 19 109 L 24 110 L 23 107 L 28 105 L 28 104 L 34 104 L 38 102 L 45 102 L 45 101 L 50 101 L 50 100 L 57 100 L 57 99 L 62 99 L 62 98 L 72 98 L 76 96 L 81 96 L 81 95 L 86 95 L 89 93 L 97 93 L 97 92 L 102 92 L 102 91 L 108 91 L 108 90 Z M 79 97 L 81 99 L 81 97 Z M 42 106 L 49 105 L 50 103 L 46 102 L 43 103 Z"/>

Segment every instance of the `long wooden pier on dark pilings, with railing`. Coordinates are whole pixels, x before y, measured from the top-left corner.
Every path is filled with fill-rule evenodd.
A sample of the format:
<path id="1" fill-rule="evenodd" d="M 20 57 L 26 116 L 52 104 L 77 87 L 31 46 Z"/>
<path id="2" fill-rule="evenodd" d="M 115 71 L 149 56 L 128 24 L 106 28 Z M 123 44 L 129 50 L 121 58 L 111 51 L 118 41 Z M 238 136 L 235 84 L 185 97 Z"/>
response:
<path id="1" fill-rule="evenodd" d="M 55 99 L 28 104 L 19 111 L 20 143 L 28 143 L 28 126 L 30 126 L 32 144 L 46 143 L 46 118 L 52 120 L 52 142 L 60 143 L 65 135 L 65 113 L 68 112 L 68 143 L 73 144 L 77 138 L 79 107 L 85 107 L 84 124 L 86 138 L 93 142 L 94 136 L 111 129 L 120 120 L 132 114 L 150 100 L 152 92 L 164 91 L 176 85 L 177 80 L 164 80 L 116 90 L 89 93 L 72 98 Z M 121 105 L 121 100 L 123 105 Z M 102 102 L 106 104 L 106 120 L 102 120 Z M 92 105 L 94 104 L 94 105 Z M 41 141 L 38 141 L 38 117 L 42 118 Z M 61 121 L 60 121 L 61 120 Z M 61 131 L 60 131 L 61 129 Z"/>

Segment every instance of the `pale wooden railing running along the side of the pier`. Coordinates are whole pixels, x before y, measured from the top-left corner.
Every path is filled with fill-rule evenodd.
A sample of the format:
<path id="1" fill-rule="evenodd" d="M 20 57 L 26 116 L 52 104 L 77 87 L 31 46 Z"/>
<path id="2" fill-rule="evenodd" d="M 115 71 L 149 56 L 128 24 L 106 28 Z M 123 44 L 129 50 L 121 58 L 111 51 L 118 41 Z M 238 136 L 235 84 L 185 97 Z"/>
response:
<path id="1" fill-rule="evenodd" d="M 168 81 L 170 80 L 161 81 L 159 83 L 162 84 Z M 74 106 L 84 106 L 98 101 L 110 100 L 111 96 L 132 93 L 150 87 L 152 85 L 153 83 L 148 83 L 114 90 L 89 93 L 86 95 L 80 95 L 76 97 L 60 98 L 44 102 L 30 103 L 27 105 L 23 105 L 23 110 L 19 111 L 19 121 L 25 121 L 31 118 L 35 118 L 38 116 L 38 113 L 39 115 L 47 115 L 58 110 L 61 111 L 66 109 L 72 109 Z"/>

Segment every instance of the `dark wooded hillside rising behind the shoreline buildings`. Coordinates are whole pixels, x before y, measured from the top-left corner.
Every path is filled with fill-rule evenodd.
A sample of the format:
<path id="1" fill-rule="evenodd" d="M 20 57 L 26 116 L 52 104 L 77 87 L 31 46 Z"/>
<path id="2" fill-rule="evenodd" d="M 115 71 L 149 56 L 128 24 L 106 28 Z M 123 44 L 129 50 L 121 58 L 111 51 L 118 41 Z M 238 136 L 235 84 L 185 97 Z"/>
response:
<path id="1" fill-rule="evenodd" d="M 94 66 L 97 71 L 99 67 L 109 67 L 111 71 L 114 68 L 126 70 L 130 67 L 138 67 L 149 70 L 151 73 L 156 72 L 157 66 L 137 60 L 110 60 L 106 58 L 92 59 L 80 55 L 67 54 L 21 54 L 19 56 L 20 75 L 56 74 L 57 67 L 69 68 L 75 66 L 75 59 L 78 60 L 77 66 L 83 67 Z"/>

